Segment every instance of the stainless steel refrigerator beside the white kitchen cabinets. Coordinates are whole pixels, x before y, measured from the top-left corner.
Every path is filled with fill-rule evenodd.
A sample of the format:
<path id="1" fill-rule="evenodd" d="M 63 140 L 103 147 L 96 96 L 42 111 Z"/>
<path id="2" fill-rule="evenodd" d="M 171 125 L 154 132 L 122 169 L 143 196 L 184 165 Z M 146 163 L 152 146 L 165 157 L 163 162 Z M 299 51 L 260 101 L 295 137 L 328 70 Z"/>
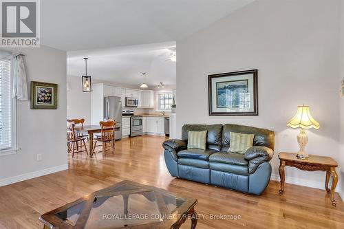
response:
<path id="1" fill-rule="evenodd" d="M 105 96 L 104 97 L 104 119 L 115 120 L 117 122 L 116 127 L 120 127 L 118 131 L 115 131 L 115 140 L 122 138 L 122 102 L 120 97 Z"/>

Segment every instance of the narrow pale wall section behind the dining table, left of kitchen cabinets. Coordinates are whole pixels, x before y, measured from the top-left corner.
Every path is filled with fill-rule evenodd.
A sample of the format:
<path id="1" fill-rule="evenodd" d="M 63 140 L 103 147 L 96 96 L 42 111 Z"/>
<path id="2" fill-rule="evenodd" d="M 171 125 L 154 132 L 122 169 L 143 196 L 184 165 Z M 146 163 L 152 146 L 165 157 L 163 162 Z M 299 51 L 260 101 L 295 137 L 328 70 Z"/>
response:
<path id="1" fill-rule="evenodd" d="M 91 124 L 91 93 L 83 92 L 81 76 L 67 76 L 67 118 L 85 118 Z"/>

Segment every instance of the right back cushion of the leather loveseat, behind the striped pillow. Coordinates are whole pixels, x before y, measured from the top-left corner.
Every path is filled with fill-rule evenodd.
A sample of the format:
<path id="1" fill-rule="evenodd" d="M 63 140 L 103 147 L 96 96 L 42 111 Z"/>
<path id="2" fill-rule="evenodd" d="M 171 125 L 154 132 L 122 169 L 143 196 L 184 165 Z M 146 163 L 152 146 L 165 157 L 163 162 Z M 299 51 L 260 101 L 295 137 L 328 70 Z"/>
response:
<path id="1" fill-rule="evenodd" d="M 253 146 L 266 146 L 272 150 L 274 149 L 274 131 L 270 131 L 268 129 L 261 129 L 257 127 L 241 126 L 237 124 L 224 124 L 222 130 L 222 151 L 225 150 L 226 146 L 229 146 L 230 132 L 255 134 L 255 138 L 253 139 Z"/>

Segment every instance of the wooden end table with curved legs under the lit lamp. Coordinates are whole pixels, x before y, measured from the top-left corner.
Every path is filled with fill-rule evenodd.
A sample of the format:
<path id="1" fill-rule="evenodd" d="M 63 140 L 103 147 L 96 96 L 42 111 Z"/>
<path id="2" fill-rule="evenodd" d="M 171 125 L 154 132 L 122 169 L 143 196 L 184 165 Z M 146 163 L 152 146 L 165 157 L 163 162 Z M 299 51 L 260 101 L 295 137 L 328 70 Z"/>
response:
<path id="1" fill-rule="evenodd" d="M 336 173 L 336 167 L 338 164 L 331 157 L 322 157 L 316 155 L 310 155 L 307 159 L 298 159 L 296 153 L 279 153 L 279 177 L 281 178 L 281 189 L 279 194 L 284 192 L 284 181 L 285 181 L 285 166 L 292 166 L 299 168 L 304 171 L 325 171 L 325 190 L 326 193 L 330 193 L 331 203 L 336 206 L 336 201 L 334 200 L 334 190 L 338 183 L 338 175 Z M 328 183 L 330 181 L 330 175 L 332 175 L 332 185 L 331 189 L 328 188 Z"/>

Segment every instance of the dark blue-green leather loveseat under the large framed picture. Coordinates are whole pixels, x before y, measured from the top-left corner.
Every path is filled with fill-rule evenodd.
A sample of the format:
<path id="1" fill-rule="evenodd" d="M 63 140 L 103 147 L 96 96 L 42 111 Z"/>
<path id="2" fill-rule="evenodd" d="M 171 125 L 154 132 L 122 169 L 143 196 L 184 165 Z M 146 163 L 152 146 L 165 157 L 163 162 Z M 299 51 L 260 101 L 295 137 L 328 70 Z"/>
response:
<path id="1" fill-rule="evenodd" d="M 206 149 L 187 149 L 189 131 L 207 131 Z M 255 134 L 245 154 L 228 153 L 230 132 Z M 260 195 L 268 186 L 275 133 L 236 124 L 185 124 L 182 140 L 166 140 L 164 158 L 173 177 Z"/>

